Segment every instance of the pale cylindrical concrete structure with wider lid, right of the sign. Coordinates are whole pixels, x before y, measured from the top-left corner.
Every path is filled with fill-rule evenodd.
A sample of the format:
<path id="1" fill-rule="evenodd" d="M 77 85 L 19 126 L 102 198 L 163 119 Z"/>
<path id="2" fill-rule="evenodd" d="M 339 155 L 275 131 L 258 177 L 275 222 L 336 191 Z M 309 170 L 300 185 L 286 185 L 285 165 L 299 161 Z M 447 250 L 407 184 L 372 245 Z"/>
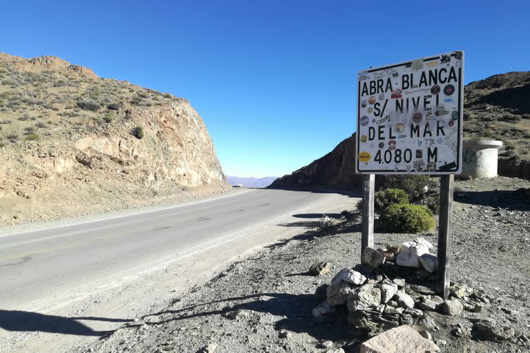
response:
<path id="1" fill-rule="evenodd" d="M 497 177 L 499 148 L 502 141 L 480 139 L 464 141 L 462 177 Z"/>

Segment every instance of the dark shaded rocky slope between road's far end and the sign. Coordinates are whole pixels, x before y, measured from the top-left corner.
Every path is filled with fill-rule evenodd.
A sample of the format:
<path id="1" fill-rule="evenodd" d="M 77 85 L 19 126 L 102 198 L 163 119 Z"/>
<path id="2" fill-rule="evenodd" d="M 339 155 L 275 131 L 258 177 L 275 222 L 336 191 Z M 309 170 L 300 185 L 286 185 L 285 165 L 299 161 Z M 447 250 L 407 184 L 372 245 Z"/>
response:
<path id="1" fill-rule="evenodd" d="M 355 174 L 355 134 L 326 154 L 292 174 L 276 179 L 271 188 L 355 188 L 362 176 Z"/>

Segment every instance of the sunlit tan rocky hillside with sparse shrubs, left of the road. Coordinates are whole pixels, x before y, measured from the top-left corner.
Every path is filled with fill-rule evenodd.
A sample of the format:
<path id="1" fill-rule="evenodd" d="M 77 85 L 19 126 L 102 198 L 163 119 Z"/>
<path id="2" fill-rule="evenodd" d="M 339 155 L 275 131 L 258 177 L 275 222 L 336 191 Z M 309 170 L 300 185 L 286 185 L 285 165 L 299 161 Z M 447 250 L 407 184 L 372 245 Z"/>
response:
<path id="1" fill-rule="evenodd" d="M 0 225 L 227 188 L 188 101 L 57 57 L 0 54 Z"/>

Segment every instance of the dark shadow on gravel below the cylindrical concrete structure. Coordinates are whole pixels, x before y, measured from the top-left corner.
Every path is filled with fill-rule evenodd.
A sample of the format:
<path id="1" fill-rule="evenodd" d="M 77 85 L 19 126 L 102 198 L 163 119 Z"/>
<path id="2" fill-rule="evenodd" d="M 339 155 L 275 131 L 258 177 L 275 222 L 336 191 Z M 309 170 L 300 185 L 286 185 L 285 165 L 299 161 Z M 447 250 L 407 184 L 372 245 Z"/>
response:
<path id="1" fill-rule="evenodd" d="M 530 210 L 530 201 L 518 190 L 455 192 L 454 200 L 471 205 L 500 207 L 511 211 Z"/>

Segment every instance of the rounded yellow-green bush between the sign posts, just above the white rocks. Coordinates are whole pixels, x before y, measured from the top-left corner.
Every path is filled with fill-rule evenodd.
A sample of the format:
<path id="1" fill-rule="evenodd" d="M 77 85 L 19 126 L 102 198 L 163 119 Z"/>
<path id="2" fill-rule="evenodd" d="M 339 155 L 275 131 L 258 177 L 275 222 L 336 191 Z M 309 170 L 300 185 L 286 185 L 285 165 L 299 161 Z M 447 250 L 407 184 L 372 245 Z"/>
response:
<path id="1" fill-rule="evenodd" d="M 382 230 L 391 233 L 418 233 L 434 228 L 433 212 L 421 205 L 389 205 L 379 218 Z"/>

